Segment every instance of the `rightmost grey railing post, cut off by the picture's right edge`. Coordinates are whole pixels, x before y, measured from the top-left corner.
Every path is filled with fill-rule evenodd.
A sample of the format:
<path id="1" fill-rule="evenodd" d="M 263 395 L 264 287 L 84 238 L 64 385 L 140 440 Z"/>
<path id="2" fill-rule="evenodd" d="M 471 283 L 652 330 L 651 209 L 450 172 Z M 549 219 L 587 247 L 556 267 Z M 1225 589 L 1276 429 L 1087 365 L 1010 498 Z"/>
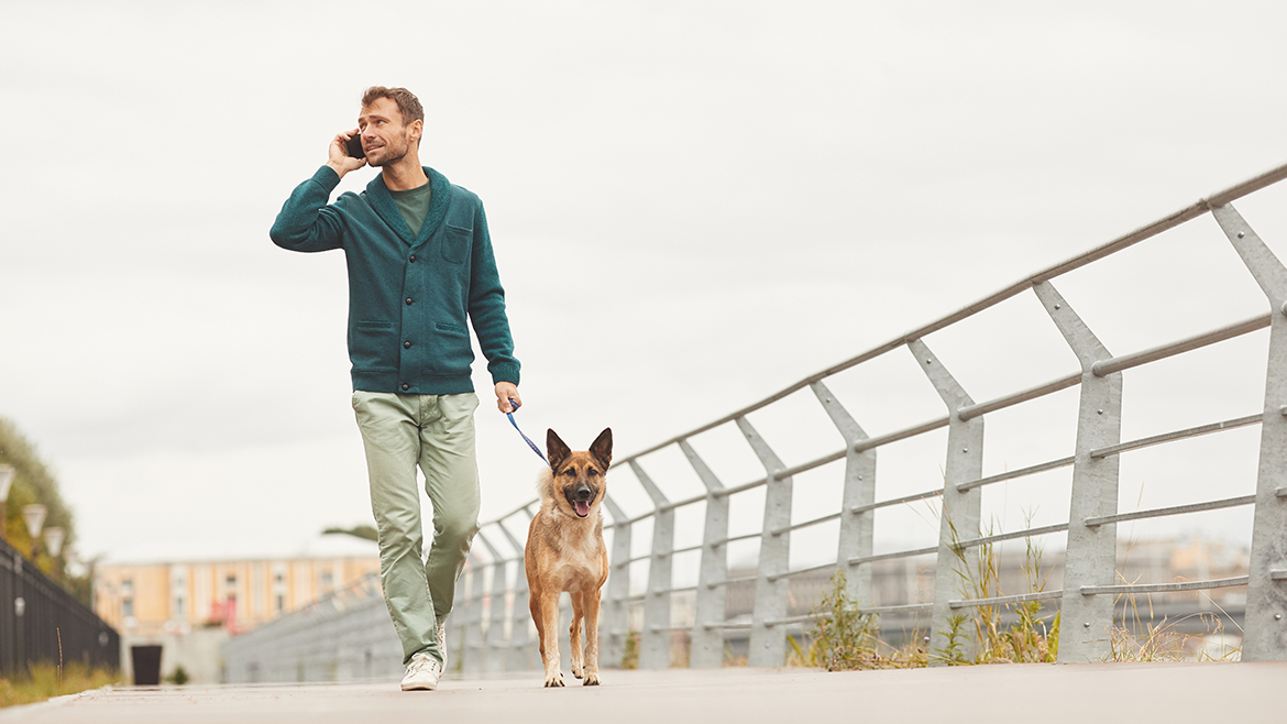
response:
<path id="1" fill-rule="evenodd" d="M 1232 205 L 1211 215 L 1269 298 L 1269 363 L 1247 569 L 1243 661 L 1287 660 L 1287 268 Z"/>

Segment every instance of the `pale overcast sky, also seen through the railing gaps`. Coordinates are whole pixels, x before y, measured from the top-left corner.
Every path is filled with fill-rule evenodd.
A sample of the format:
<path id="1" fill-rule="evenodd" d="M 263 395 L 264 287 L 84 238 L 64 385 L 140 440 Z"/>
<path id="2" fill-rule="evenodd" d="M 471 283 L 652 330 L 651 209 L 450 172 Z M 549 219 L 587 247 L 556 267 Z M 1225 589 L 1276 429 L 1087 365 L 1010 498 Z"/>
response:
<path id="1" fill-rule="evenodd" d="M 520 424 L 574 448 L 611 426 L 618 456 L 1287 161 L 1273 1 L 49 1 L 4 17 L 0 415 L 55 470 L 82 554 L 112 559 L 288 554 L 371 522 L 344 255 L 268 238 L 367 85 L 417 93 L 421 160 L 486 205 Z M 1279 255 L 1284 200 L 1239 205 Z M 1264 312 L 1215 224 L 1187 228 L 1055 281 L 1111 350 Z M 976 399 L 1076 370 L 1033 299 L 988 319 L 927 339 Z M 1257 412 L 1264 339 L 1127 375 L 1124 435 Z M 849 397 L 837 383 L 867 432 L 941 415 L 910 356 L 885 357 Z M 486 519 L 532 497 L 541 462 L 476 367 Z M 816 403 L 793 405 L 753 416 L 789 464 L 839 447 L 825 417 L 801 421 Z M 990 420 L 986 469 L 1068 455 L 1075 408 L 1071 390 L 1033 412 L 1048 426 Z M 721 434 L 699 450 L 726 484 L 750 479 Z M 1250 492 L 1259 434 L 1230 435 L 1162 468 L 1124 460 L 1124 506 Z M 934 487 L 943 438 L 927 439 L 882 451 L 882 497 Z M 797 518 L 838 505 L 803 484 Z M 988 488 L 987 514 L 1066 519 L 1066 492 L 1026 486 Z M 932 514 L 892 513 L 878 545 L 931 545 Z M 1142 535 L 1238 541 L 1248 524 Z"/>

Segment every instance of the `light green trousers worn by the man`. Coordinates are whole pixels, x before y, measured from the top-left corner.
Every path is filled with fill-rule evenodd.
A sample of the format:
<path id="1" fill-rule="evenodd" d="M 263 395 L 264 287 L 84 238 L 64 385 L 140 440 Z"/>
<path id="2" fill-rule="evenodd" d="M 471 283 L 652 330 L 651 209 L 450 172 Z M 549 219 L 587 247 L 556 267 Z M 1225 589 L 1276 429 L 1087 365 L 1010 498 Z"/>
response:
<path id="1" fill-rule="evenodd" d="M 380 584 L 403 663 L 427 652 L 443 661 L 438 622 L 452 612 L 456 580 L 479 529 L 479 473 L 474 411 L 465 394 L 353 393 L 353 411 L 367 450 L 371 511 L 380 532 Z M 434 544 L 422 559 L 420 488 L 434 505 Z"/>

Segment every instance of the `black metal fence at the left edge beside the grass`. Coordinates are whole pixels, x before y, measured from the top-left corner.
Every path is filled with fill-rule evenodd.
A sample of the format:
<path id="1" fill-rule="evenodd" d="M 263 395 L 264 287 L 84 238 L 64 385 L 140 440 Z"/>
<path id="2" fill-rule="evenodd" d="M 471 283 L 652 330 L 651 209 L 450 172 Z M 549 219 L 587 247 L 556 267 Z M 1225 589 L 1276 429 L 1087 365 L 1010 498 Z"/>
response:
<path id="1" fill-rule="evenodd" d="M 26 676 L 31 663 L 59 661 L 115 671 L 121 635 L 0 541 L 0 676 Z"/>

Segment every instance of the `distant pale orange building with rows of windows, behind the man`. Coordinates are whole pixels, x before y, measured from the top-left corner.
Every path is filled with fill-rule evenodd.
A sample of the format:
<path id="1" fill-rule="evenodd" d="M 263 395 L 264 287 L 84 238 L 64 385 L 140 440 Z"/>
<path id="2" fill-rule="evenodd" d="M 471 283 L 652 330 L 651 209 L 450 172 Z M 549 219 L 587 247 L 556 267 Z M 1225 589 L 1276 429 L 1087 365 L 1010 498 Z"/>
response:
<path id="1" fill-rule="evenodd" d="M 127 680 L 130 648 L 160 644 L 162 675 L 183 666 L 193 683 L 216 683 L 229 636 L 378 571 L 376 544 L 347 536 L 326 536 L 288 558 L 100 563 L 94 611 L 121 633 Z"/>

